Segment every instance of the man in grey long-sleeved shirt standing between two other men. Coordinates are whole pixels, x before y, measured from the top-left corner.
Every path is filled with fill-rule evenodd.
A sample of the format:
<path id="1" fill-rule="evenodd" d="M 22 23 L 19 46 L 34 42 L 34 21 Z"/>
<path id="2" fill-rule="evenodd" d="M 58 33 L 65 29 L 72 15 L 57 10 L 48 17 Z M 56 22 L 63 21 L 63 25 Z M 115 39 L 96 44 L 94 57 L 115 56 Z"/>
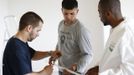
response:
<path id="1" fill-rule="evenodd" d="M 62 13 L 64 20 L 59 23 L 57 49 L 61 52 L 59 65 L 84 74 L 92 61 L 90 33 L 76 18 L 78 3 L 76 0 L 63 0 Z M 50 58 L 56 57 L 53 55 Z M 60 69 L 60 75 L 70 75 Z"/>

